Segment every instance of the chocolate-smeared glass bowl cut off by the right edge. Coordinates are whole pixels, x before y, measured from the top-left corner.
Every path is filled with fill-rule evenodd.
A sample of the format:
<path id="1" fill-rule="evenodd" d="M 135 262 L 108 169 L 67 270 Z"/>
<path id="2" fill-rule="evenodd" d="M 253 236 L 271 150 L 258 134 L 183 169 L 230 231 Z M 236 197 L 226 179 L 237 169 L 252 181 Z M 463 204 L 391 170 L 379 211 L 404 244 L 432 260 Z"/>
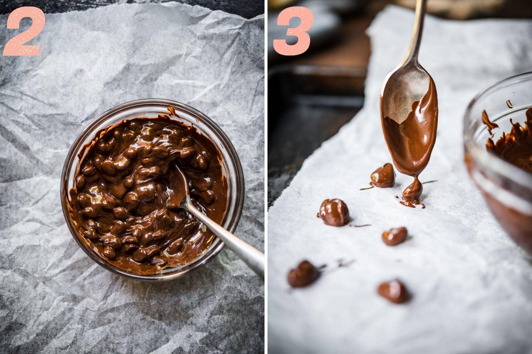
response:
<path id="1" fill-rule="evenodd" d="M 479 93 L 465 110 L 464 161 L 469 175 L 506 232 L 532 255 L 532 174 L 486 150 L 489 137 L 481 122 L 482 111 L 500 129 L 493 129 L 496 141 L 511 130 L 510 118 L 521 125 L 532 107 L 532 72 L 509 77 Z M 510 108 L 506 100 L 510 100 Z"/>

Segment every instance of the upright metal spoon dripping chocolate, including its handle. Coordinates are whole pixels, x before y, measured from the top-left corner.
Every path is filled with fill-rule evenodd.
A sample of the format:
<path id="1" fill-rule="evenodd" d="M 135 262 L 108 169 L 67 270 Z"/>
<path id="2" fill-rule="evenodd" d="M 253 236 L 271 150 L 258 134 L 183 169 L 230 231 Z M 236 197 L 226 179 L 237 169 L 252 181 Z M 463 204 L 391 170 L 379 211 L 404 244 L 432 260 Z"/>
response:
<path id="1" fill-rule="evenodd" d="M 436 85 L 418 62 L 426 11 L 427 0 L 417 0 L 409 51 L 388 74 L 380 93 L 381 123 L 388 150 L 397 170 L 414 178 L 427 166 L 438 125 Z"/>

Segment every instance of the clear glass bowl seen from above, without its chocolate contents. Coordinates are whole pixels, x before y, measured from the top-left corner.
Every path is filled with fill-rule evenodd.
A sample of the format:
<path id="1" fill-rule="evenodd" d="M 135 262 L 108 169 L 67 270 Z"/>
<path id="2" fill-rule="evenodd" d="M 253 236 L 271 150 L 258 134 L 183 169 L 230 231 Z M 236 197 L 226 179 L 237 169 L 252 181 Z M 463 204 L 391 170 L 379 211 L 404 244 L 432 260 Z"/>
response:
<path id="1" fill-rule="evenodd" d="M 72 144 L 68 156 L 63 167 L 61 175 L 61 203 L 63 206 L 63 214 L 72 236 L 78 245 L 92 258 L 96 263 L 103 266 L 105 269 L 113 273 L 123 275 L 124 277 L 134 278 L 139 280 L 171 280 L 180 277 L 186 272 L 195 269 L 198 266 L 205 264 L 221 251 L 223 242 L 214 237 L 213 241 L 207 250 L 198 256 L 193 262 L 165 268 L 160 273 L 140 275 L 135 274 L 119 267 L 116 267 L 99 256 L 93 251 L 90 246 L 81 239 L 78 232 L 70 220 L 68 211 L 69 205 L 69 191 L 74 184 L 74 174 L 78 163 L 84 156 L 80 156 L 82 147 L 93 140 L 97 132 L 114 124 L 118 124 L 123 119 L 132 119 L 137 117 L 156 117 L 160 114 L 168 114 L 168 107 L 173 107 L 176 113 L 182 119 L 171 117 L 171 119 L 180 120 L 188 125 L 194 125 L 197 130 L 209 137 L 218 146 L 222 154 L 222 170 L 223 175 L 227 178 L 227 209 L 221 226 L 231 232 L 235 231 L 242 214 L 242 206 L 244 204 L 244 174 L 242 166 L 238 159 L 235 147 L 229 141 L 227 135 L 216 125 L 209 117 L 205 116 L 200 111 L 185 105 L 184 103 L 163 100 L 163 99 L 144 99 L 124 103 L 118 107 L 106 111 L 90 123 L 88 127 L 81 132 L 76 141 Z"/>

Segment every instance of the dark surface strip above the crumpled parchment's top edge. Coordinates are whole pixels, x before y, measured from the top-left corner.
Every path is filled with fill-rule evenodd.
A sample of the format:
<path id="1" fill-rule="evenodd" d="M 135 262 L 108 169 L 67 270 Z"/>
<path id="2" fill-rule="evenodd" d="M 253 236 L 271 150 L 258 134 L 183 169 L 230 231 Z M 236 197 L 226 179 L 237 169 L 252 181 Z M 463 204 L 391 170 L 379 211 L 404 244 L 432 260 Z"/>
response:
<path id="1" fill-rule="evenodd" d="M 81 11 L 111 4 L 168 3 L 173 0 L 0 0 L 0 14 L 10 13 L 21 6 L 35 6 L 44 13 Z M 189 5 L 200 5 L 211 10 L 222 10 L 240 15 L 246 19 L 264 13 L 262 0 L 177 0 Z"/>

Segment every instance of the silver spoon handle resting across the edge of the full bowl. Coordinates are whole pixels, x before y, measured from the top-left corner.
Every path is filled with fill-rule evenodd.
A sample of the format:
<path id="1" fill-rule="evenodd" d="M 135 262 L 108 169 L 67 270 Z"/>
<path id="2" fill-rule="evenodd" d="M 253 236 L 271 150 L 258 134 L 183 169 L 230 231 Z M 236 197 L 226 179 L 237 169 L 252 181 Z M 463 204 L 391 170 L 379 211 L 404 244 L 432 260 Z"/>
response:
<path id="1" fill-rule="evenodd" d="M 231 232 L 227 231 L 214 221 L 211 218 L 207 217 L 199 210 L 197 210 L 190 201 L 189 197 L 186 197 L 186 203 L 182 203 L 184 207 L 190 214 L 213 232 L 214 235 L 218 236 L 226 245 L 233 251 L 238 258 L 244 261 L 262 280 L 264 280 L 264 253 L 260 252 L 255 247 L 252 247 L 245 243 L 243 240 L 239 239 Z"/>

